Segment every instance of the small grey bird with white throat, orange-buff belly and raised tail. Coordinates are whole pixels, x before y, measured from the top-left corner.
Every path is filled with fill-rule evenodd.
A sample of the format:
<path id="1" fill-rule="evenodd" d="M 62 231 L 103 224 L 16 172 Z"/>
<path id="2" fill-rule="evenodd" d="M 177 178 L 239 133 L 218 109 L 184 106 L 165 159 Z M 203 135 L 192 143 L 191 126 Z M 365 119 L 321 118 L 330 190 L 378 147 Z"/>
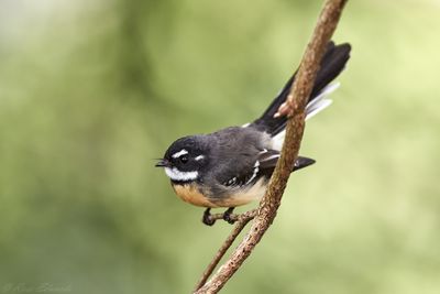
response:
<path id="1" fill-rule="evenodd" d="M 306 120 L 327 108 L 329 94 L 339 87 L 332 83 L 345 68 L 351 45 L 327 44 L 312 91 L 306 106 Z M 296 72 L 297 73 L 297 72 Z M 223 219 L 233 224 L 238 206 L 260 199 L 280 156 L 287 117 L 278 110 L 286 101 L 296 73 L 256 120 L 228 127 L 212 133 L 186 135 L 174 141 L 155 166 L 163 167 L 174 192 L 189 204 L 205 207 L 202 222 L 212 226 L 211 208 L 228 208 Z M 298 156 L 294 171 L 315 163 Z"/>

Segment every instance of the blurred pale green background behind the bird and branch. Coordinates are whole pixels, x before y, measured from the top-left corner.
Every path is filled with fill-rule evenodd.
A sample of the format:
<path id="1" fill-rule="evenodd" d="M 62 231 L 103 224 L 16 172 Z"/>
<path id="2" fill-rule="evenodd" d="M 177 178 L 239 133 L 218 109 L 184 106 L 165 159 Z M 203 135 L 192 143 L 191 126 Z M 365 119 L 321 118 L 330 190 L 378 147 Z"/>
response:
<path id="1" fill-rule="evenodd" d="M 230 227 L 153 159 L 256 118 L 321 1 L 0 6 L 0 293 L 189 293 Z M 352 58 L 302 142 L 318 163 L 226 293 L 440 293 L 439 13 L 349 1 Z"/>

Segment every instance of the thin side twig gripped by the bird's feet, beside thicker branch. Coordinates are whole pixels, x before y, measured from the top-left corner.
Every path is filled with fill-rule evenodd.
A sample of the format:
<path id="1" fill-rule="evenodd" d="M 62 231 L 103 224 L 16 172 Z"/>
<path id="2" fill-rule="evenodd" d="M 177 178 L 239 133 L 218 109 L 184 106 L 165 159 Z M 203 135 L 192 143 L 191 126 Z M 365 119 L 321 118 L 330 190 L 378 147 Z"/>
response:
<path id="1" fill-rule="evenodd" d="M 231 233 L 228 236 L 228 239 L 224 240 L 224 242 L 220 247 L 219 251 L 217 251 L 212 261 L 208 264 L 207 269 L 202 273 L 200 281 L 197 283 L 194 291 L 197 291 L 202 285 L 205 285 L 205 283 L 208 281 L 209 276 L 216 269 L 217 264 L 219 264 L 220 260 L 227 253 L 228 249 L 232 246 L 232 243 L 235 241 L 237 237 L 244 229 L 244 227 L 248 225 L 248 222 L 251 221 L 256 216 L 256 213 L 257 213 L 257 210 L 253 209 L 253 210 L 246 211 L 244 214 L 231 215 L 231 219 L 237 221 L 235 227 L 232 229 Z M 211 215 L 211 218 L 212 219 L 223 219 L 223 214 Z"/>

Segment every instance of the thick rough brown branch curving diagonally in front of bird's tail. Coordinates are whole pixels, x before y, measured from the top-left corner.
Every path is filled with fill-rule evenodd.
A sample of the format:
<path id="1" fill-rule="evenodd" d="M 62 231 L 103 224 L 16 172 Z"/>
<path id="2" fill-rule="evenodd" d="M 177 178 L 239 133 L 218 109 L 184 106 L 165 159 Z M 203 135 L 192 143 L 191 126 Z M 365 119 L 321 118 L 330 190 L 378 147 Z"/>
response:
<path id="1" fill-rule="evenodd" d="M 304 54 L 296 81 L 287 98 L 286 102 L 289 107 L 279 109 L 280 113 L 289 117 L 282 155 L 271 177 L 267 192 L 260 203 L 250 232 L 211 280 L 195 293 L 218 293 L 240 269 L 273 222 L 295 160 L 298 156 L 305 127 L 305 107 L 311 94 L 327 43 L 337 28 L 345 2 L 346 0 L 326 0 L 311 41 Z M 240 226 L 240 222 L 238 226 Z"/>

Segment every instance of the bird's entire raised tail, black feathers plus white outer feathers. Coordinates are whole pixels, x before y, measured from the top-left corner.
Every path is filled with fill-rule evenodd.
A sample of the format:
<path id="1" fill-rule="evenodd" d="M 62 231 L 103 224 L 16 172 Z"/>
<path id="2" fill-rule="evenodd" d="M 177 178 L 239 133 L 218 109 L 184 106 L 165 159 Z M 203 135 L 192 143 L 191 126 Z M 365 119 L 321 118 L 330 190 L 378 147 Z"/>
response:
<path id="1" fill-rule="evenodd" d="M 322 57 L 321 66 L 315 80 L 310 99 L 307 104 L 307 118 L 312 117 L 331 104 L 331 100 L 326 99 L 326 97 L 333 91 L 339 84 L 329 84 L 344 69 L 350 58 L 350 51 L 351 46 L 348 43 L 334 45 L 333 42 L 329 42 L 327 45 L 327 51 Z M 263 116 L 252 123 L 254 128 L 263 130 L 273 137 L 286 128 L 287 118 L 274 118 L 274 115 L 278 111 L 279 106 L 286 101 L 290 87 L 295 81 L 295 76 L 296 73 L 289 78 L 278 96 L 266 111 L 264 111 Z"/>

